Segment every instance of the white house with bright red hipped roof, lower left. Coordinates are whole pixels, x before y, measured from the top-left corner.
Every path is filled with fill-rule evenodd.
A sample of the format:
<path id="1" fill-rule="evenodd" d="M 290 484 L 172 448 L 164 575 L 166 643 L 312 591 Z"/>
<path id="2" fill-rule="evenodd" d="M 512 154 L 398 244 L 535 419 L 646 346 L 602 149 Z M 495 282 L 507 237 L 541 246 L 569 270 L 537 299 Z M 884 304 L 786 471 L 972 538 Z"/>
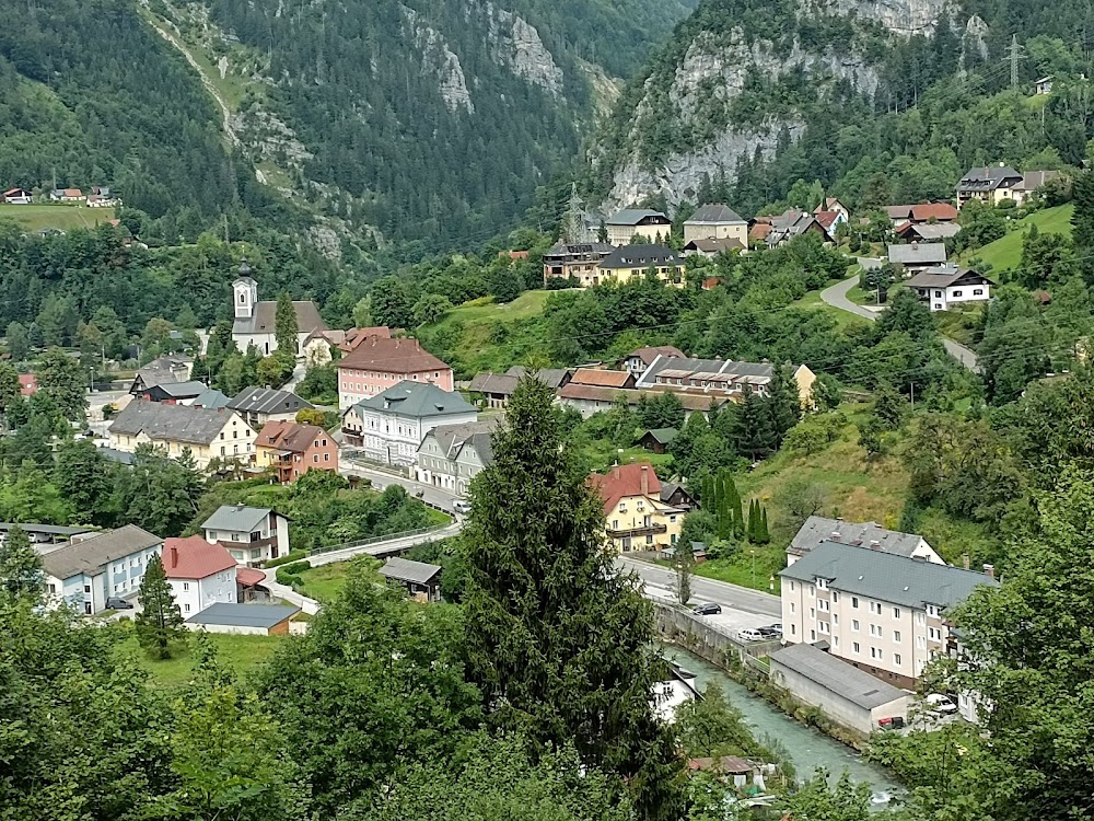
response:
<path id="1" fill-rule="evenodd" d="M 164 541 L 163 571 L 184 618 L 210 604 L 237 600 L 235 559 L 223 545 L 202 536 Z"/>

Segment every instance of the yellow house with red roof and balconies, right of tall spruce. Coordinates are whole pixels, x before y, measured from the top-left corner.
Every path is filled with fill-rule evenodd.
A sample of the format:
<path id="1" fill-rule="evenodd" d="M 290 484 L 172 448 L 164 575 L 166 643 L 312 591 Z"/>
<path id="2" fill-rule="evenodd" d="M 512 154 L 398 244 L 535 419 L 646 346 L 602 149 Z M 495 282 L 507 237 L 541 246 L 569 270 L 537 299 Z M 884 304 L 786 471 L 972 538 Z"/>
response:
<path id="1" fill-rule="evenodd" d="M 661 479 L 648 462 L 594 473 L 590 485 L 604 501 L 607 546 L 622 553 L 676 544 L 686 511 L 661 500 Z"/>

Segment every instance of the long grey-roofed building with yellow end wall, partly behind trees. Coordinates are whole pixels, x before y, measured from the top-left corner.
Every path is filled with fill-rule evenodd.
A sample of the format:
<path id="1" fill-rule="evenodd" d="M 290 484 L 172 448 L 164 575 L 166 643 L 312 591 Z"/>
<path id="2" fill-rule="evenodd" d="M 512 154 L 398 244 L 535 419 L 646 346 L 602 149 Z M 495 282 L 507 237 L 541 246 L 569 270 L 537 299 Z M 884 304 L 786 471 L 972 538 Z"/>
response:
<path id="1" fill-rule="evenodd" d="M 804 365 L 793 370 L 802 407 L 810 407 L 816 374 Z M 682 396 L 700 394 L 740 401 L 744 397 L 745 388 L 761 396 L 767 395 L 773 375 L 775 366 L 770 362 L 657 357 L 639 378 L 638 388 L 672 391 Z"/>

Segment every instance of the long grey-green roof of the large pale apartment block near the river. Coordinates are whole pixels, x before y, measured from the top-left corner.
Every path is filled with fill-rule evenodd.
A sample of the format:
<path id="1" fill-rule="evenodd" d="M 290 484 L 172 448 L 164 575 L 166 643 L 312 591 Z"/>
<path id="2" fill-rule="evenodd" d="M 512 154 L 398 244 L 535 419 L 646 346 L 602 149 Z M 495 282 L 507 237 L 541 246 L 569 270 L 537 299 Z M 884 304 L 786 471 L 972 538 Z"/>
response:
<path id="1" fill-rule="evenodd" d="M 973 570 L 836 542 L 822 542 L 779 575 L 806 583 L 828 579 L 833 590 L 917 609 L 924 604 L 947 608 L 964 601 L 980 585 L 998 583 Z"/>

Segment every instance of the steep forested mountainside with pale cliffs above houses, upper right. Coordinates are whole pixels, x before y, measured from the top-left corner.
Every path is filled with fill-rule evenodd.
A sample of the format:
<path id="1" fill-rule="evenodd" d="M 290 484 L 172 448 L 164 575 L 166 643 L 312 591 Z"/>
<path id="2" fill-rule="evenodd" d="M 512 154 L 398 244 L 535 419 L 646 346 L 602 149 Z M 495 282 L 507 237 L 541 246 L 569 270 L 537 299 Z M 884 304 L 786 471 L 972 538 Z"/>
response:
<path id="1" fill-rule="evenodd" d="M 919 199 L 973 164 L 1078 164 L 1092 26 L 1083 0 L 705 0 L 621 95 L 591 153 L 597 193 L 676 205 L 714 183 L 750 212 L 799 178 L 858 200 L 883 174 L 882 199 Z M 1056 93 L 1032 104 L 1043 74 Z"/>

